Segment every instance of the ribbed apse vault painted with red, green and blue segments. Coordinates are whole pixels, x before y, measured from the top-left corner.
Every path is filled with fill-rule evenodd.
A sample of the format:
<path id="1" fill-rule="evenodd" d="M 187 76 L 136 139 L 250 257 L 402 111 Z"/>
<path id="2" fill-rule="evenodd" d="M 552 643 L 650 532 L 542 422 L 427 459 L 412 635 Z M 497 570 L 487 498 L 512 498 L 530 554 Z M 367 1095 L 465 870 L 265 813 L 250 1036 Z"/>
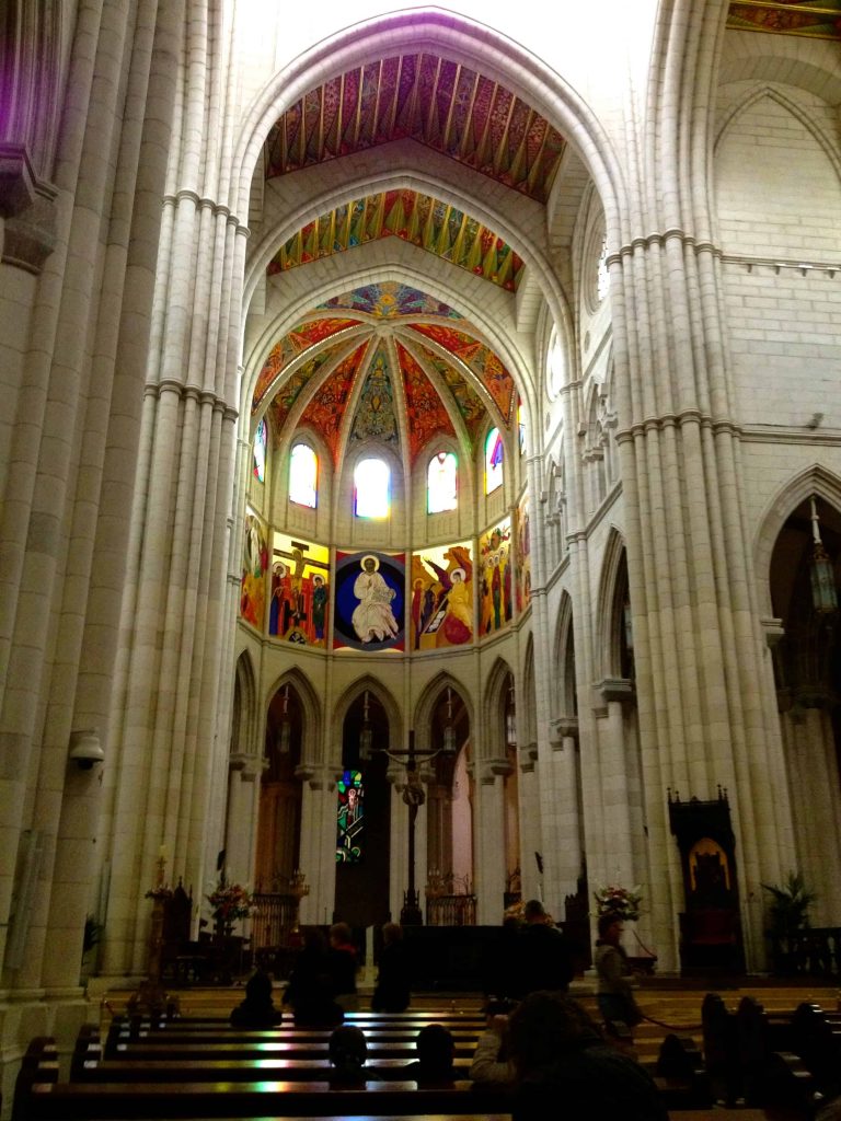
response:
<path id="1" fill-rule="evenodd" d="M 514 379 L 471 324 L 404 285 L 357 288 L 314 309 L 271 350 L 252 414 L 309 429 L 335 466 L 377 439 L 413 465 L 436 436 L 475 452 L 487 423 L 510 429 Z"/>

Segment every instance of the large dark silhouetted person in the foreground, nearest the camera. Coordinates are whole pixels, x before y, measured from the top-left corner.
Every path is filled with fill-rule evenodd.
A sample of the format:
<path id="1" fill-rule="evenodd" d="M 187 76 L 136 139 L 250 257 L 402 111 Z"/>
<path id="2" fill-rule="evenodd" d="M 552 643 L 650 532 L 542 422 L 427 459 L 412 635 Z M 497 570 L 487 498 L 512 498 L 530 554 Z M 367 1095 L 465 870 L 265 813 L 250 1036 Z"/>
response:
<path id="1" fill-rule="evenodd" d="M 607 1044 L 563 993 L 526 997 L 511 1013 L 509 1047 L 517 1071 L 512 1121 L 543 1121 L 547 1101 L 586 1121 L 668 1121 L 648 1072 Z"/>

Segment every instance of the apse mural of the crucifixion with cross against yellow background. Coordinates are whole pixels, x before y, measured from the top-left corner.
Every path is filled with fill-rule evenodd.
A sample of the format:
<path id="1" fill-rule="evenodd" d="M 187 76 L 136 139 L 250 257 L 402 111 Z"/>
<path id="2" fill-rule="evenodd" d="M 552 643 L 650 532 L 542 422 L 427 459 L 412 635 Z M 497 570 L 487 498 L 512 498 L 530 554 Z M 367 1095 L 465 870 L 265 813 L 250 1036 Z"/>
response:
<path id="1" fill-rule="evenodd" d="M 298 646 L 326 646 L 330 552 L 324 545 L 275 534 L 269 634 Z"/>

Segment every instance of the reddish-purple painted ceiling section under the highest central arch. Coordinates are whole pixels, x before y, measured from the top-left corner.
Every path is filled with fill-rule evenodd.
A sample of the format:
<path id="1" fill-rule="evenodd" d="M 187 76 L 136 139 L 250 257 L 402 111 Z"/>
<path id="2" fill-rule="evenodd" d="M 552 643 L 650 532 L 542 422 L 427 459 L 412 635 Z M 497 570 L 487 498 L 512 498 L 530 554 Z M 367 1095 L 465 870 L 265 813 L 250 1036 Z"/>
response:
<path id="1" fill-rule="evenodd" d="M 267 177 L 401 138 L 544 203 L 565 147 L 510 90 L 422 52 L 348 71 L 295 102 L 269 133 Z"/>

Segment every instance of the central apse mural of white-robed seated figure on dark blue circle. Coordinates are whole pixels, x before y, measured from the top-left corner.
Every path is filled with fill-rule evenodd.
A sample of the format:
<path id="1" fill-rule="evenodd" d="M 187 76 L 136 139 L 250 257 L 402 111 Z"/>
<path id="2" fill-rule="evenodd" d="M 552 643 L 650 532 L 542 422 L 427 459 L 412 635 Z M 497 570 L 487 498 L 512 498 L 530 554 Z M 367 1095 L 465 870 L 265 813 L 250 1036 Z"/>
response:
<path id="1" fill-rule="evenodd" d="M 405 553 L 335 555 L 333 648 L 403 650 Z"/>

